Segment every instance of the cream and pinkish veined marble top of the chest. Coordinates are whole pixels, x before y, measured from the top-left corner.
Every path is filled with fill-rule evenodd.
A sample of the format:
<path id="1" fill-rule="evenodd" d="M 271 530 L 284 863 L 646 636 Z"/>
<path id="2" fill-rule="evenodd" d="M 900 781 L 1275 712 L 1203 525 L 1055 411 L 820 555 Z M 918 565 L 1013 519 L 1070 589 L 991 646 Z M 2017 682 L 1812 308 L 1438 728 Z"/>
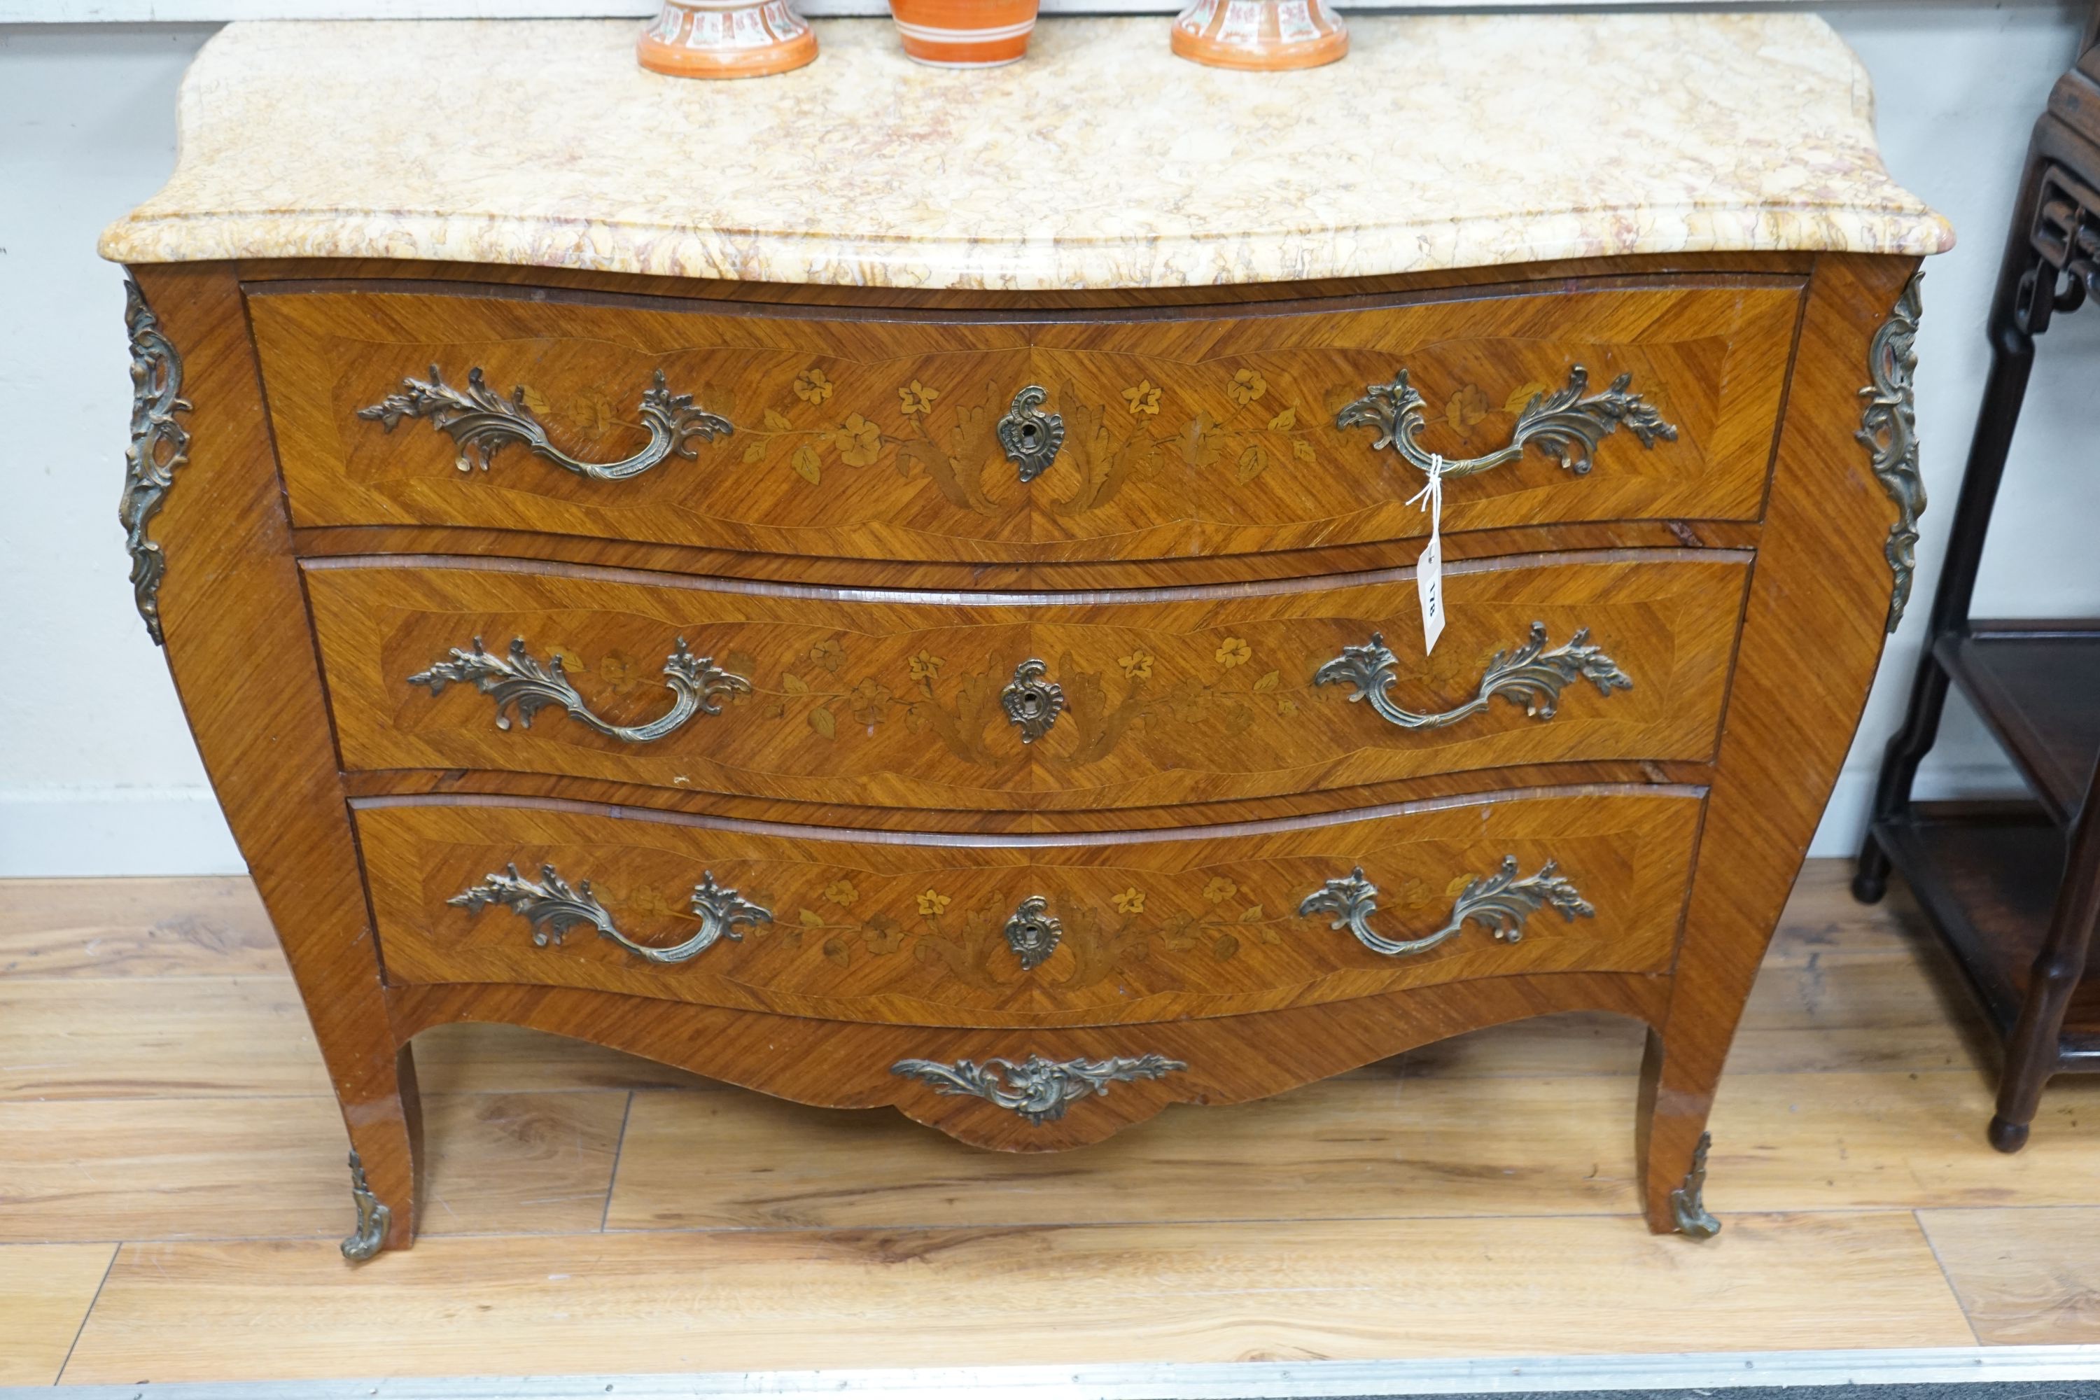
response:
<path id="1" fill-rule="evenodd" d="M 1176 59 L 1161 17 L 966 71 L 840 19 L 743 82 L 645 73 L 636 27 L 229 25 L 101 252 L 1042 290 L 1953 243 L 1808 15 L 1350 17 L 1296 73 Z"/>

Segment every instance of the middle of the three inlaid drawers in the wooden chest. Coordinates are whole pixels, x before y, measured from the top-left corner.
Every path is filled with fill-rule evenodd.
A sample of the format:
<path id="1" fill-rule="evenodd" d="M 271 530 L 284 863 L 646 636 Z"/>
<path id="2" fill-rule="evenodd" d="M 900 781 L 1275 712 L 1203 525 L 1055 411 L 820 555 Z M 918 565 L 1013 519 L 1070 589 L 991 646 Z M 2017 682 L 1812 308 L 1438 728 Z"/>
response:
<path id="1" fill-rule="evenodd" d="M 1447 571 L 1449 628 L 1428 659 L 1407 571 L 1100 594 L 783 588 L 462 558 L 304 571 L 349 768 L 1092 808 L 1562 760 L 1707 760 L 1749 556 L 1466 560 Z M 1525 651 L 1533 636 L 1537 655 Z M 1014 722 L 1008 701 L 1046 684 L 1063 705 L 1048 728 Z M 1376 699 L 1352 699 L 1365 693 Z"/>

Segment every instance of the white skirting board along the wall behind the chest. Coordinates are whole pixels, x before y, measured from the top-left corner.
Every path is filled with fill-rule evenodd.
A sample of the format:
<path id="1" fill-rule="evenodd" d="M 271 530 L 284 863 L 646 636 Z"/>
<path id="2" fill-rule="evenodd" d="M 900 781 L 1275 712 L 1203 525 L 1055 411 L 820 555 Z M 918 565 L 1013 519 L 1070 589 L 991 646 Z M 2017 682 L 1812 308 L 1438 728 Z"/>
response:
<path id="1" fill-rule="evenodd" d="M 1848 768 L 1808 848 L 1850 856 L 1873 806 L 1873 770 Z M 1917 796 L 2016 796 L 2010 768 L 1926 768 Z M 0 789 L 0 879 L 239 875 L 248 869 L 208 787 Z"/>

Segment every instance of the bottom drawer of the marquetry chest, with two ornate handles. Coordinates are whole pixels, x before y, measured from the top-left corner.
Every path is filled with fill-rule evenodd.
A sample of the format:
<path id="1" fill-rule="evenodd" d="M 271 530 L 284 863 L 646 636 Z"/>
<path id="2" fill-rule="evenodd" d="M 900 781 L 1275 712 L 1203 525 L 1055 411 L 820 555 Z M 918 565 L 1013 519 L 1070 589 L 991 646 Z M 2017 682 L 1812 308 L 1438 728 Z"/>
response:
<path id="1" fill-rule="evenodd" d="M 388 798 L 359 804 L 357 831 L 393 982 L 1067 1026 L 1665 972 L 1701 810 L 1695 787 L 1594 787 L 1174 833 L 867 837 Z"/>

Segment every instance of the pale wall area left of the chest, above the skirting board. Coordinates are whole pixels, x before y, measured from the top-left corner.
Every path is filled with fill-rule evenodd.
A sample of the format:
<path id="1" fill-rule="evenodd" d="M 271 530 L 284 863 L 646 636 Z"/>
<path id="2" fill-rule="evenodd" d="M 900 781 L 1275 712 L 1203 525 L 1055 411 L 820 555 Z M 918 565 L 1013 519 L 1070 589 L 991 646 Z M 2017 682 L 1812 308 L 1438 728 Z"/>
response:
<path id="1" fill-rule="evenodd" d="M 124 283 L 94 256 L 168 178 L 210 34 L 0 27 L 0 875 L 242 869 L 132 611 Z"/>

